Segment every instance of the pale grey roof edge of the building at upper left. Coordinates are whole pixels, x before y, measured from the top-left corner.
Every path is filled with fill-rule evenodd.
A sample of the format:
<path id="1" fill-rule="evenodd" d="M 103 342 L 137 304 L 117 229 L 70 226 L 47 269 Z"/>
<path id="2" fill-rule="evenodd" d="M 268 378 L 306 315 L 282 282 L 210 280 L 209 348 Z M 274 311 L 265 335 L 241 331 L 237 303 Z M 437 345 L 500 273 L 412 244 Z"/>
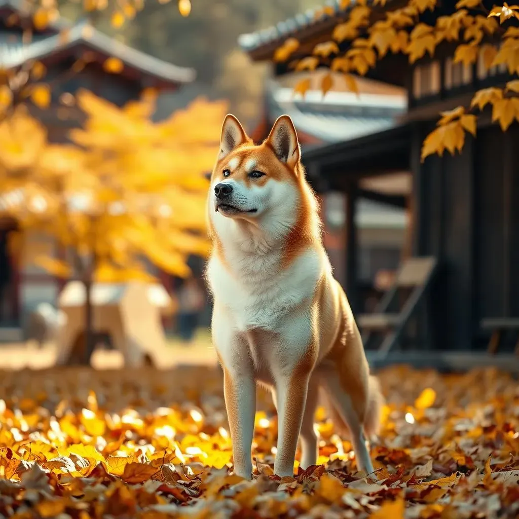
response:
<path id="1" fill-rule="evenodd" d="M 17 67 L 26 61 L 42 59 L 56 51 L 81 44 L 107 56 L 118 58 L 126 65 L 145 74 L 172 83 L 190 83 L 196 76 L 194 69 L 173 65 L 149 56 L 106 36 L 86 22 L 74 25 L 66 35 L 36 35 L 33 41 L 26 45 L 21 42 L 11 42 L 8 33 L 0 33 L 0 67 L 6 69 Z"/>

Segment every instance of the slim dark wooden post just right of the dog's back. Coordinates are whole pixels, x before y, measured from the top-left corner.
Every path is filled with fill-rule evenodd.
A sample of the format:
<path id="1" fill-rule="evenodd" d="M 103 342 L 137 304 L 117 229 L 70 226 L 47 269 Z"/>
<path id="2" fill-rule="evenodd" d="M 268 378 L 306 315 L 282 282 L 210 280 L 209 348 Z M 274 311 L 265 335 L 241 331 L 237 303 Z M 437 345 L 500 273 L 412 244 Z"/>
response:
<path id="1" fill-rule="evenodd" d="M 353 314 L 358 311 L 357 301 L 357 184 L 351 184 L 346 191 L 346 268 L 345 289 Z"/>

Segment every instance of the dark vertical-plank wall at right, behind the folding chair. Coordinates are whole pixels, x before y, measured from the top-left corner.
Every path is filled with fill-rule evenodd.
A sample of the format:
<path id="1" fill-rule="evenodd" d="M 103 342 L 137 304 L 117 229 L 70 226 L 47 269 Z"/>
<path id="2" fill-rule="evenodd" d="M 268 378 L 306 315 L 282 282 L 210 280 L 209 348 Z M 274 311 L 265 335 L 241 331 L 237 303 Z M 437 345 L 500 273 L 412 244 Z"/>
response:
<path id="1" fill-rule="evenodd" d="M 440 260 L 429 299 L 433 341 L 442 349 L 482 346 L 481 319 L 519 317 L 519 126 L 480 128 L 461 154 L 421 163 L 431 129 L 416 126 L 412 169 L 414 252 Z"/>

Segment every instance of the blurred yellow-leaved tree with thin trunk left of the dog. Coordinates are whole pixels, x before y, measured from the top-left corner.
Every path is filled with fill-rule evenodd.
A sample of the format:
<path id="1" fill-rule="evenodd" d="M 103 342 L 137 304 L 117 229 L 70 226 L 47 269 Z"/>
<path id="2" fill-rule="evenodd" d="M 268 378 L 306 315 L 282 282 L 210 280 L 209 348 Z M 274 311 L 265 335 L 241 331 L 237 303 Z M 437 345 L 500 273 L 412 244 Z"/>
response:
<path id="1" fill-rule="evenodd" d="M 84 283 L 87 361 L 94 281 L 151 280 L 144 258 L 185 277 L 187 255 L 209 251 L 204 173 L 213 166 L 227 103 L 198 99 L 154 123 L 153 92 L 122 108 L 88 91 L 76 97 L 86 122 L 71 130 L 72 144 L 49 144 L 23 104 L 0 123 L 0 193 L 12 200 L 7 210 L 19 243 L 40 233 L 70 252 L 68 262 L 34 261 Z"/>

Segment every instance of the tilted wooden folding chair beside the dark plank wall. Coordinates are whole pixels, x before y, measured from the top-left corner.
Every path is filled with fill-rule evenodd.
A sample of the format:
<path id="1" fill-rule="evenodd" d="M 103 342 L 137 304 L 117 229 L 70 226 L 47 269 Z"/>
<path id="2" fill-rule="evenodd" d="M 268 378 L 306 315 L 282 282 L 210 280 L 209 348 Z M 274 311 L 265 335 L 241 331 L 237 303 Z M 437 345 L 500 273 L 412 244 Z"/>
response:
<path id="1" fill-rule="evenodd" d="M 384 294 L 376 311 L 357 316 L 357 324 L 363 333 L 364 345 L 372 333 L 386 334 L 378 348 L 380 353 L 387 353 L 399 341 L 405 326 L 427 291 L 436 264 L 436 258 L 424 256 L 409 258 L 401 265 L 392 288 Z M 399 289 L 409 289 L 411 293 L 399 313 L 389 312 L 389 307 L 397 297 Z"/>

